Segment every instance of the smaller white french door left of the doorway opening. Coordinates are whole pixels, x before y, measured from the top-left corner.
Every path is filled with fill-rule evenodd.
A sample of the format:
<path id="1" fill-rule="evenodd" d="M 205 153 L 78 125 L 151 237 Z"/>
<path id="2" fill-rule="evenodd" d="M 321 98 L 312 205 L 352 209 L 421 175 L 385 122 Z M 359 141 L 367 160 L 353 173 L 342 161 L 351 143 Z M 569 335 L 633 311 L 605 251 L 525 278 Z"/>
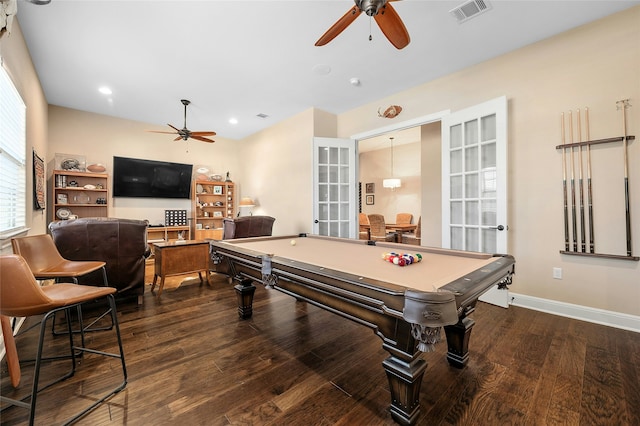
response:
<path id="1" fill-rule="evenodd" d="M 356 142 L 351 139 L 313 139 L 313 233 L 356 238 Z"/>

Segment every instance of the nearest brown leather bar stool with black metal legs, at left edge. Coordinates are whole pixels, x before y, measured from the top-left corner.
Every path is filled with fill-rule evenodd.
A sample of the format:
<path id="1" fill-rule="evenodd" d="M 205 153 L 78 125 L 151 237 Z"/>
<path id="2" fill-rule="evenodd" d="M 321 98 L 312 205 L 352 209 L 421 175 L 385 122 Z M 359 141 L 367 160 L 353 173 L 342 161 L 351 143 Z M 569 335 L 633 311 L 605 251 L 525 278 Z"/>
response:
<path id="1" fill-rule="evenodd" d="M 119 359 L 123 378 L 122 382 L 119 382 L 119 379 L 117 379 L 117 381 L 119 382 L 118 385 L 102 396 L 85 395 L 84 390 L 82 391 L 83 395 L 78 395 L 75 392 L 67 391 L 53 394 L 52 397 L 56 398 L 56 402 L 58 404 L 72 399 L 73 405 L 77 404 L 77 400 L 83 401 L 89 399 L 93 401 L 82 411 L 73 415 L 67 422 L 65 422 L 65 424 L 72 423 L 83 417 L 89 411 L 93 410 L 102 402 L 104 402 L 107 398 L 110 398 L 112 395 L 115 395 L 126 387 L 127 368 L 124 359 L 124 351 L 122 348 L 120 327 L 118 325 L 118 318 L 116 315 L 116 304 L 115 298 L 113 296 L 115 292 L 116 289 L 112 287 L 96 287 L 72 283 L 58 283 L 55 285 L 40 286 L 36 281 L 33 273 L 31 272 L 29 265 L 22 256 L 15 254 L 0 256 L 0 293 L 2 294 L 2 298 L 0 299 L 0 315 L 5 315 L 8 317 L 42 316 L 41 318 L 39 318 L 40 332 L 36 349 L 36 356 L 35 359 L 30 360 L 35 363 L 33 372 L 33 383 L 31 384 L 31 393 L 26 395 L 25 397 L 18 397 L 20 399 L 10 398 L 8 396 L 9 392 L 3 392 L 3 394 L 0 395 L 0 400 L 3 403 L 26 408 L 29 410 L 29 425 L 34 424 L 38 393 L 56 383 L 61 382 L 62 380 L 70 378 L 75 374 L 76 358 L 78 357 L 76 352 L 80 354 L 86 353 L 104 356 L 107 360 L 111 360 L 113 358 Z M 80 323 L 79 346 L 76 345 L 76 342 L 74 341 L 76 340 L 74 339 L 74 333 L 71 332 L 70 310 L 75 309 L 85 302 L 103 298 L 106 298 L 109 305 L 109 313 L 111 315 L 111 320 L 113 321 L 112 329 L 115 331 L 119 349 L 118 353 L 105 352 L 102 350 L 87 348 L 85 346 L 81 310 L 78 311 L 80 312 L 80 314 L 78 315 L 78 321 Z M 63 311 L 65 312 L 64 316 L 66 318 L 67 324 L 67 332 L 65 334 L 68 334 L 69 336 L 69 354 L 65 354 L 63 356 L 44 357 L 44 349 L 47 348 L 47 351 L 50 351 L 49 347 L 51 346 L 50 342 L 47 342 L 47 344 L 45 344 L 45 329 L 47 326 L 46 323 L 48 320 L 53 319 L 54 315 L 57 312 Z M 87 360 L 86 365 L 90 366 L 88 369 L 95 369 L 95 371 L 100 376 L 100 381 L 105 380 L 105 377 L 111 377 L 115 373 L 115 371 L 112 370 L 113 367 L 111 366 L 109 367 L 110 373 L 107 375 L 104 374 L 104 371 L 102 369 L 95 368 L 95 365 L 88 360 L 88 358 L 92 355 L 87 355 L 87 357 L 84 357 L 85 360 Z M 17 354 L 15 356 L 17 356 Z M 71 360 L 71 366 L 67 373 L 58 377 L 57 379 L 54 379 L 46 385 L 40 386 L 39 379 L 43 361 L 55 362 L 69 359 Z M 49 374 L 46 374 L 46 376 L 49 377 Z M 84 377 L 82 389 L 88 389 L 89 386 L 85 385 L 90 381 L 91 380 L 89 380 L 88 377 Z M 17 390 L 17 393 L 20 393 L 19 391 L 20 389 Z M 5 407 L 3 407 L 3 409 L 4 408 Z"/>

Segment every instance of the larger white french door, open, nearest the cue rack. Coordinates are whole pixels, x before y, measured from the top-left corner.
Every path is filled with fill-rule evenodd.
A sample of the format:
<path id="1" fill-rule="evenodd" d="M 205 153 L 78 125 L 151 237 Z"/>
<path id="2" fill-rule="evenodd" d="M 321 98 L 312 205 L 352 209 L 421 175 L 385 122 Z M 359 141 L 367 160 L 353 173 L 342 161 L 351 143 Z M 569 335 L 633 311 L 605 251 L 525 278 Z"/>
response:
<path id="1" fill-rule="evenodd" d="M 442 245 L 507 253 L 507 99 L 442 119 Z"/>

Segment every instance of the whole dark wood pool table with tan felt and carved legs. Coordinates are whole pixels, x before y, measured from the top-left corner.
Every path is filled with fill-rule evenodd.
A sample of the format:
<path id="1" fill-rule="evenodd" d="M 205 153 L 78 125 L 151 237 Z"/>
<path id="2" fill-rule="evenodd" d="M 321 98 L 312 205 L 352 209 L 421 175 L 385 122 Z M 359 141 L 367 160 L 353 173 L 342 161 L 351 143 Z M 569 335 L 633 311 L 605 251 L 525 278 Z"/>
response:
<path id="1" fill-rule="evenodd" d="M 372 328 L 390 355 L 383 367 L 400 424 L 420 414 L 421 353 L 433 350 L 444 327 L 447 360 L 463 367 L 474 325 L 468 315 L 490 287 L 511 284 L 515 266 L 509 255 L 307 234 L 210 244 L 215 270 L 237 281 L 241 318 L 251 317 L 260 282 Z M 419 253 L 422 261 L 394 265 L 382 258 L 387 252 Z"/>

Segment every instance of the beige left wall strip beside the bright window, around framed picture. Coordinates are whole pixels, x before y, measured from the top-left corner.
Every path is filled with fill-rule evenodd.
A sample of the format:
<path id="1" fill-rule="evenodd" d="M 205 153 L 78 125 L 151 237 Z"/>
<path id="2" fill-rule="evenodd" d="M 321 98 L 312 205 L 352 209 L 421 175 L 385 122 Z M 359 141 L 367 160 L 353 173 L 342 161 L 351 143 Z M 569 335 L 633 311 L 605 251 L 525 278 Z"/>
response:
<path id="1" fill-rule="evenodd" d="M 27 50 L 20 25 L 13 21 L 11 34 L 5 33 L 0 38 L 0 58 L 2 67 L 7 70 L 22 100 L 27 107 L 27 215 L 26 225 L 32 234 L 46 231 L 46 210 L 33 208 L 33 156 L 32 151 L 40 157 L 47 154 L 47 100 L 44 97 L 40 80 L 36 74 L 31 56 Z M 49 200 L 47 200 L 49 203 Z M 3 247 L 6 250 L 6 247 Z M 9 251 L 11 251 L 9 249 Z"/>

